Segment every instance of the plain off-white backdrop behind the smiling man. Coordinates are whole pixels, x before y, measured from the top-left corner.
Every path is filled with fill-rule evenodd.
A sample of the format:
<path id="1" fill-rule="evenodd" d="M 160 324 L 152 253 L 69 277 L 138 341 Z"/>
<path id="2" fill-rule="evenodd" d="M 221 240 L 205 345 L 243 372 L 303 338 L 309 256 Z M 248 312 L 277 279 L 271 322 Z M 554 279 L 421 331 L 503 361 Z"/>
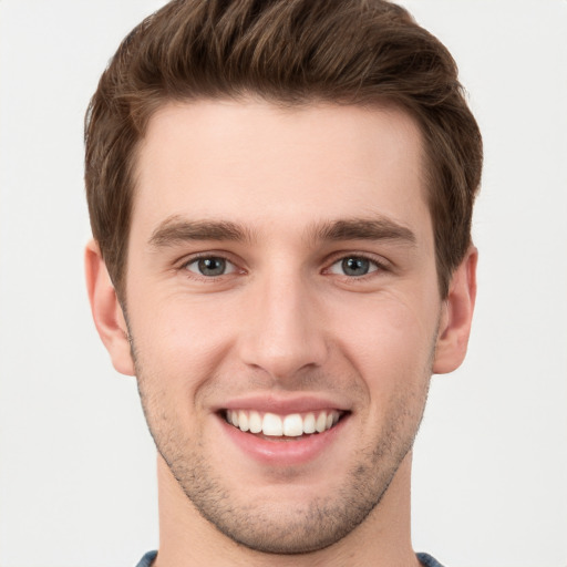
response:
<path id="1" fill-rule="evenodd" d="M 82 121 L 157 0 L 0 0 L 0 566 L 126 567 L 157 545 L 135 382 L 91 322 Z M 408 0 L 484 133 L 470 354 L 434 377 L 413 539 L 452 567 L 567 567 L 567 1 Z"/>

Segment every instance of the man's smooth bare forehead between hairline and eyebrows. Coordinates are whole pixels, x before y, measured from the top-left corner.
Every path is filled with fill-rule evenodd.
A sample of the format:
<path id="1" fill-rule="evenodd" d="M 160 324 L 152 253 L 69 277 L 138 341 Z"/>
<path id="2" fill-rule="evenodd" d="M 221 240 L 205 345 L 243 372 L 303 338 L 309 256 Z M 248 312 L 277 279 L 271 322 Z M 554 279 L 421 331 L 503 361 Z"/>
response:
<path id="1" fill-rule="evenodd" d="M 171 216 L 261 233 L 372 215 L 431 228 L 421 133 L 394 107 L 169 103 L 138 148 L 133 230 Z"/>

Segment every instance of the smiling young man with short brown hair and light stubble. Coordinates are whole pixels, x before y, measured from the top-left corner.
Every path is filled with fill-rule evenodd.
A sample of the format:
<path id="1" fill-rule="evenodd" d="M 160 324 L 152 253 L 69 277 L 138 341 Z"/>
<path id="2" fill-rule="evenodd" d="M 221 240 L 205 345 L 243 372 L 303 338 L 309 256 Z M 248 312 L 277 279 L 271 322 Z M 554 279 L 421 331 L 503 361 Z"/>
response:
<path id="1" fill-rule="evenodd" d="M 411 454 L 466 351 L 481 165 L 451 55 L 390 2 L 174 1 L 124 40 L 86 274 L 158 451 L 140 565 L 439 565 Z"/>

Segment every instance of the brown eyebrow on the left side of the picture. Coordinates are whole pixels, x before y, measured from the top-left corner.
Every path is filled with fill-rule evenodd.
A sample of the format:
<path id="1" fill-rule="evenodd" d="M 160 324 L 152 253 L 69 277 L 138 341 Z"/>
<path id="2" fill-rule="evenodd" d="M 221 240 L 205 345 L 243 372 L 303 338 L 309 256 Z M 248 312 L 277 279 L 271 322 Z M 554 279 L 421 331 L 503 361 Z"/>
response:
<path id="1" fill-rule="evenodd" d="M 250 241 L 252 235 L 229 220 L 187 220 L 174 215 L 161 223 L 150 237 L 150 244 L 156 248 L 188 240 Z"/>

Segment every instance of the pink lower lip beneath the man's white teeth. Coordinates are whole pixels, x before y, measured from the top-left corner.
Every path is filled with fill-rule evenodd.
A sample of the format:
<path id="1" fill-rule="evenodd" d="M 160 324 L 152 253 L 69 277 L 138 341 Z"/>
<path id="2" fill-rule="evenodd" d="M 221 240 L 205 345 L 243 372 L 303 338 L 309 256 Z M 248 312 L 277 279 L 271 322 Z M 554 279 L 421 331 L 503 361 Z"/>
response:
<path id="1" fill-rule="evenodd" d="M 323 433 L 313 433 L 299 439 L 274 437 L 274 440 L 245 433 L 227 423 L 224 417 L 218 419 L 228 437 L 256 461 L 274 466 L 293 466 L 309 463 L 323 454 L 344 429 L 348 415 L 343 415 L 337 425 Z"/>

